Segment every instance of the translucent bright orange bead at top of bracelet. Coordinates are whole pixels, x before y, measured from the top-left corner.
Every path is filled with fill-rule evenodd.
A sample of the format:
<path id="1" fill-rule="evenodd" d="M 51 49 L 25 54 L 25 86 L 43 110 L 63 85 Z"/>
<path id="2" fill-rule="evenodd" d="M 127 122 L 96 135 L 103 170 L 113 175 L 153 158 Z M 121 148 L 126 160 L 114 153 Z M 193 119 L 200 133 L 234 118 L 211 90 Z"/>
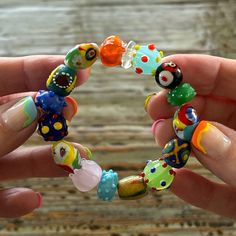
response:
<path id="1" fill-rule="evenodd" d="M 106 38 L 100 46 L 101 62 L 105 66 L 121 65 L 121 58 L 125 52 L 125 43 L 115 35 Z"/>

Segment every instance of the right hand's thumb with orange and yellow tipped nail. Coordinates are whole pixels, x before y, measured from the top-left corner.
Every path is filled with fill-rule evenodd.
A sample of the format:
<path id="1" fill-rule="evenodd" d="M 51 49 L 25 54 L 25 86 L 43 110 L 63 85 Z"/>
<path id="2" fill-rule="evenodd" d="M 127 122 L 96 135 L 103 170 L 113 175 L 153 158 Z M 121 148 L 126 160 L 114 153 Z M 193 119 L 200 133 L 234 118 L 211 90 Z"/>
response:
<path id="1" fill-rule="evenodd" d="M 236 131 L 216 122 L 201 121 L 191 143 L 198 160 L 225 183 L 236 187 Z"/>

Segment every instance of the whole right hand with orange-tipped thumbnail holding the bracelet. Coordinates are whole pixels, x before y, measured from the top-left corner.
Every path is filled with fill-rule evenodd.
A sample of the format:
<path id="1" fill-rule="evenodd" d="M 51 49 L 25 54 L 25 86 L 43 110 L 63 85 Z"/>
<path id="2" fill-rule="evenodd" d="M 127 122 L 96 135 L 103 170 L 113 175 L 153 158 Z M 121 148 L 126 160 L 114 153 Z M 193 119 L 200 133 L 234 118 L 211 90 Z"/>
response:
<path id="1" fill-rule="evenodd" d="M 236 60 L 173 55 L 165 61 L 173 61 L 182 69 L 184 82 L 197 92 L 190 104 L 200 120 L 210 121 L 200 123 L 208 129 L 201 136 L 200 146 L 192 139 L 193 154 L 224 182 L 214 183 L 185 168 L 176 169 L 171 191 L 197 207 L 236 218 Z M 176 107 L 168 104 L 165 94 L 163 90 L 153 95 L 146 107 L 155 121 L 155 140 L 162 147 L 176 137 L 172 128 Z M 197 133 L 195 130 L 195 140 Z"/>

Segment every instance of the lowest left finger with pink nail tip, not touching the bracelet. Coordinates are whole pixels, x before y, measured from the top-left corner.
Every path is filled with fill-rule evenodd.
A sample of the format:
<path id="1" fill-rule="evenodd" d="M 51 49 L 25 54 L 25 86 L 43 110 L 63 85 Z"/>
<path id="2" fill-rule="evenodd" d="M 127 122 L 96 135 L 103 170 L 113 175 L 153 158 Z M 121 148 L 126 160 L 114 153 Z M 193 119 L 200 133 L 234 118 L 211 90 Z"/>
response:
<path id="1" fill-rule="evenodd" d="M 40 193 L 27 188 L 0 190 L 0 217 L 13 218 L 26 215 L 42 205 Z"/>

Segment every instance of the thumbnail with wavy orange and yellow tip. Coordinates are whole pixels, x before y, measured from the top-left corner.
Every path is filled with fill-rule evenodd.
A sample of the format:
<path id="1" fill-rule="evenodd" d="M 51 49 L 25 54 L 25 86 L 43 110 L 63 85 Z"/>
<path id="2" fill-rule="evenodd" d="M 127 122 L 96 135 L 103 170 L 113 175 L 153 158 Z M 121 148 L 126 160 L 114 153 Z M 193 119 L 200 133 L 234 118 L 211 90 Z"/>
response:
<path id="1" fill-rule="evenodd" d="M 231 145 L 231 140 L 207 121 L 198 124 L 191 142 L 197 150 L 216 159 L 227 155 Z"/>

